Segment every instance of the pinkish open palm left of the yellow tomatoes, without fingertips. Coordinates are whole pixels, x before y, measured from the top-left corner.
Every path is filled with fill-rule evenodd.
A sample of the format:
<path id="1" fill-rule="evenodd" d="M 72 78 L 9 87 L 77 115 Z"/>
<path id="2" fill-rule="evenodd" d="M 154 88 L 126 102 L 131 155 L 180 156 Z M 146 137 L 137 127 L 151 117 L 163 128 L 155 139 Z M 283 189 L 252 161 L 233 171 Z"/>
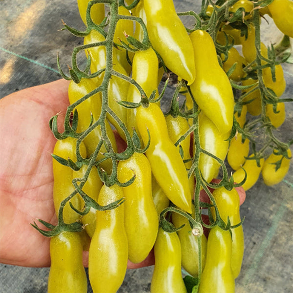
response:
<path id="1" fill-rule="evenodd" d="M 56 222 L 50 155 L 56 139 L 48 121 L 65 113 L 67 87 L 60 80 L 0 101 L 1 262 L 31 267 L 50 263 L 49 239 L 29 224 L 36 218 Z"/>

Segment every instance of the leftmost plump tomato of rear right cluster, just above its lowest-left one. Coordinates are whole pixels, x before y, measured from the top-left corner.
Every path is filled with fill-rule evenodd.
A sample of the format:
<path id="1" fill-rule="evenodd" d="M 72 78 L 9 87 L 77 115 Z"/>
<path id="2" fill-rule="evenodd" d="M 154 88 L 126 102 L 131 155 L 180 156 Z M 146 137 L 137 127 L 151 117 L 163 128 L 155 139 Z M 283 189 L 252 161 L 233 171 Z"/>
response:
<path id="1" fill-rule="evenodd" d="M 238 133 L 237 137 L 231 140 L 227 161 L 232 169 L 237 170 L 245 163 L 245 157 L 249 154 L 249 139 L 245 139 L 242 143 L 242 135 Z"/>

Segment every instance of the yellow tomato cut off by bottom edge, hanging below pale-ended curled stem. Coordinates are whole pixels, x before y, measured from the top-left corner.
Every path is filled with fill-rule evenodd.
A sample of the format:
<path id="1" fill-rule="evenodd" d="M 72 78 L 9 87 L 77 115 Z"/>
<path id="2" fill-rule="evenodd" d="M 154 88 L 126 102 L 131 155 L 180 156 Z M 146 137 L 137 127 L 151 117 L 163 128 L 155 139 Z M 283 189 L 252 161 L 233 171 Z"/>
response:
<path id="1" fill-rule="evenodd" d="M 187 293 L 181 274 L 181 246 L 176 232 L 159 228 L 155 243 L 151 293 Z"/>

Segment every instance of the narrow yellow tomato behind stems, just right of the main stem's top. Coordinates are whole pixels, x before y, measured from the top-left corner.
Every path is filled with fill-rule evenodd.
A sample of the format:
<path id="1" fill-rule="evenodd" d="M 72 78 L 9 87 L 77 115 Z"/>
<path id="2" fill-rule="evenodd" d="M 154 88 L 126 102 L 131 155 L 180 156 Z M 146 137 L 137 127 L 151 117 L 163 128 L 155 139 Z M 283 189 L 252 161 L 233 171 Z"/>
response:
<path id="1" fill-rule="evenodd" d="M 130 16 L 129 10 L 127 10 L 123 6 L 119 6 L 118 13 L 121 15 L 127 15 Z M 116 28 L 115 28 L 115 34 L 114 34 L 114 42 L 117 44 L 121 44 L 120 40 L 126 42 L 126 37 L 124 34 L 133 36 L 133 21 L 129 20 L 119 20 L 117 22 Z M 126 57 L 126 49 L 124 48 L 113 48 L 113 55 L 117 58 L 117 60 L 121 63 L 121 65 L 126 70 L 127 74 L 129 75 L 131 72 L 131 65 L 127 61 Z"/>

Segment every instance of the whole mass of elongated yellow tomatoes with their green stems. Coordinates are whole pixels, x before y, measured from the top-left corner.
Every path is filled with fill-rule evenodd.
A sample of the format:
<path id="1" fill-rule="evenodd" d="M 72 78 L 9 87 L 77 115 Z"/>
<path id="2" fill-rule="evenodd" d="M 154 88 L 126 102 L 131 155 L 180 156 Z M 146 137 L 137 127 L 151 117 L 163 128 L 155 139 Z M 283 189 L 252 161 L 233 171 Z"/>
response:
<path id="1" fill-rule="evenodd" d="M 70 77 L 61 71 L 71 79 L 64 132 L 57 116 L 50 121 L 58 139 L 58 225 L 42 221 L 52 237 L 48 292 L 86 292 L 88 250 L 93 292 L 115 293 L 127 261 L 140 263 L 154 249 L 152 293 L 189 292 L 181 268 L 192 276 L 192 292 L 232 293 L 244 253 L 235 187 L 251 188 L 261 172 L 265 184 L 277 184 L 291 158 L 272 134 L 285 119 L 283 70 L 260 42 L 257 23 L 269 13 L 291 36 L 274 7 L 291 9 L 293 2 L 203 1 L 200 15 L 189 13 L 196 15 L 194 30 L 172 0 L 105 3 L 107 14 L 101 1 L 78 0 L 86 30 L 65 25 L 84 39 L 75 54 L 83 51 L 87 63 L 79 69 L 73 55 Z M 166 115 L 160 101 L 167 82 L 158 92 L 164 72 L 178 77 Z M 247 121 L 247 112 L 260 118 Z M 257 123 L 274 143 L 267 159 L 270 144 L 255 150 Z"/>

